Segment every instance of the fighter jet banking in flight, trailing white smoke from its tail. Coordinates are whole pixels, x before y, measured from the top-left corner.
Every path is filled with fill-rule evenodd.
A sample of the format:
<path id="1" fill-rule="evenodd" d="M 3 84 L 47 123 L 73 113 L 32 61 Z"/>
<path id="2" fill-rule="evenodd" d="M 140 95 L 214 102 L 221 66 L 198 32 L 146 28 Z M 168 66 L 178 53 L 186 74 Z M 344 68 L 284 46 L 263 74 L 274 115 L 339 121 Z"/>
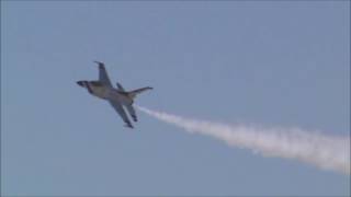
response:
<path id="1" fill-rule="evenodd" d="M 133 120 L 137 121 L 137 116 L 133 107 L 134 99 L 137 94 L 147 90 L 152 90 L 152 88 L 145 86 L 133 91 L 125 91 L 120 83 L 116 83 L 117 89 L 115 89 L 110 81 L 104 63 L 100 61 L 94 62 L 99 65 L 99 80 L 77 81 L 77 83 L 80 86 L 86 88 L 90 94 L 106 100 L 120 114 L 123 121 L 126 124 L 126 127 L 133 128 L 133 125 L 129 121 L 129 118 L 126 115 L 123 106 L 127 109 Z"/>

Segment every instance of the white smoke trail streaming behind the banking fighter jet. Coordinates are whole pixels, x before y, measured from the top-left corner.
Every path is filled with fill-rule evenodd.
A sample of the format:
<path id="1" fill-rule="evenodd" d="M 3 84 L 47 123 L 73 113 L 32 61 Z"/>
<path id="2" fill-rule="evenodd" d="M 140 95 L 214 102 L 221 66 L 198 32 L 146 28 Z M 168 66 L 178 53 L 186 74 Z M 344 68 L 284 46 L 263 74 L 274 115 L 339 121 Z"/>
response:
<path id="1" fill-rule="evenodd" d="M 302 129 L 229 126 L 137 107 L 157 119 L 184 128 L 192 134 L 217 138 L 233 147 L 250 149 L 264 157 L 295 159 L 324 170 L 350 174 L 349 137 L 331 137 Z"/>

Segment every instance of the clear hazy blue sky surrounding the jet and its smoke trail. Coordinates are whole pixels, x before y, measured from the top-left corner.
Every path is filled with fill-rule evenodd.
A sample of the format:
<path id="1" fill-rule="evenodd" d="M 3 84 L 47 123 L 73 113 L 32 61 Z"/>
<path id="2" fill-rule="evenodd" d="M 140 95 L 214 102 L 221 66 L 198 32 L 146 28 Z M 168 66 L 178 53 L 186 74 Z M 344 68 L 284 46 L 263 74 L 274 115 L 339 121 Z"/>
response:
<path id="1" fill-rule="evenodd" d="M 139 113 L 77 80 L 106 63 L 137 104 L 350 134 L 350 1 L 1 1 L 2 195 L 350 195 L 350 176 Z"/>

